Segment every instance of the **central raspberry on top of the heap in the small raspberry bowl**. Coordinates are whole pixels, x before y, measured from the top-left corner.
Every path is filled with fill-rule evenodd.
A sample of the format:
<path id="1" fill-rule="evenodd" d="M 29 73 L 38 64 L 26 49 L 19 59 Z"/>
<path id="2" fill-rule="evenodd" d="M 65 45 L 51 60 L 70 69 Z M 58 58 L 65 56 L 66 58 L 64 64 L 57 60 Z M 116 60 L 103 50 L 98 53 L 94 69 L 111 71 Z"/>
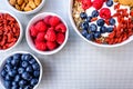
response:
<path id="1" fill-rule="evenodd" d="M 45 38 L 48 41 L 55 41 L 57 36 L 55 36 L 55 31 L 53 30 L 53 28 L 49 28 L 49 29 L 48 29 L 47 34 L 44 36 L 44 38 Z"/>

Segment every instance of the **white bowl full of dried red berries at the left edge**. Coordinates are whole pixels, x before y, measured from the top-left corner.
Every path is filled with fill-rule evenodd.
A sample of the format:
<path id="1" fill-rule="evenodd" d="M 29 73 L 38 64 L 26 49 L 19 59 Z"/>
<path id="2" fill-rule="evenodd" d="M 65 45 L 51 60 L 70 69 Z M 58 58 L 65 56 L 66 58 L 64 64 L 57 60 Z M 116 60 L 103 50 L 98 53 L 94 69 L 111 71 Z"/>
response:
<path id="1" fill-rule="evenodd" d="M 11 50 L 22 39 L 22 26 L 12 13 L 0 10 L 0 52 Z"/>

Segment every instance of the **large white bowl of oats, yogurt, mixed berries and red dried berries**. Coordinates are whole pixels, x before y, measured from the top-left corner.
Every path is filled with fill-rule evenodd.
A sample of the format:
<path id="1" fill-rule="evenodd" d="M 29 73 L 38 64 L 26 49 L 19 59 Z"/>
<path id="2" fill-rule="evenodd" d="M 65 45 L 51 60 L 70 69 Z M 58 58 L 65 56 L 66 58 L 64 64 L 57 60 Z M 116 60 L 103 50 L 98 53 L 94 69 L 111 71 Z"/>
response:
<path id="1" fill-rule="evenodd" d="M 70 0 L 75 32 L 98 47 L 120 47 L 133 40 L 133 4 L 122 0 Z"/>

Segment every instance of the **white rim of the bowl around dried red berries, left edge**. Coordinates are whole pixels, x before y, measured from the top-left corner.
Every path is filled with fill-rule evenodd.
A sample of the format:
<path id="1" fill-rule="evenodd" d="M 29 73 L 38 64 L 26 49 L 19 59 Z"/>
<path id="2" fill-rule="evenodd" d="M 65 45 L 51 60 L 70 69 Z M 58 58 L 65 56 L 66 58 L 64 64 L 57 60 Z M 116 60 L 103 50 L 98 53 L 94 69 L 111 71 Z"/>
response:
<path id="1" fill-rule="evenodd" d="M 17 47 L 21 42 L 21 39 L 22 39 L 22 36 L 23 36 L 23 29 L 22 29 L 22 24 L 20 23 L 20 21 L 18 20 L 18 18 L 16 16 L 13 16 L 12 13 L 10 13 L 8 11 L 4 11 L 4 10 L 0 10 L 0 13 L 9 13 L 10 16 L 12 16 L 17 20 L 17 22 L 19 23 L 19 27 L 20 27 L 20 36 L 19 36 L 17 42 L 8 49 L 4 49 L 4 50 L 0 49 L 0 52 L 6 52 L 6 51 L 9 51 L 12 48 Z"/>

